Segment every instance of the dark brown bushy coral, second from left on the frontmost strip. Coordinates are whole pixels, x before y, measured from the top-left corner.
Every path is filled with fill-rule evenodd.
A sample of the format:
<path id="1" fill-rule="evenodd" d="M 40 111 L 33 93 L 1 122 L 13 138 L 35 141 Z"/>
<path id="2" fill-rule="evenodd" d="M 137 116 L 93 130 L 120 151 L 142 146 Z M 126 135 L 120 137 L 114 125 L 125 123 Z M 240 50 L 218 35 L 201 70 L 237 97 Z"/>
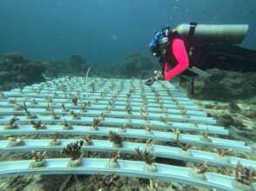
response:
<path id="1" fill-rule="evenodd" d="M 84 145 L 84 141 L 72 142 L 68 144 L 66 148 L 63 148 L 62 153 L 71 157 L 71 160 L 77 160 L 82 155 L 81 148 Z"/>

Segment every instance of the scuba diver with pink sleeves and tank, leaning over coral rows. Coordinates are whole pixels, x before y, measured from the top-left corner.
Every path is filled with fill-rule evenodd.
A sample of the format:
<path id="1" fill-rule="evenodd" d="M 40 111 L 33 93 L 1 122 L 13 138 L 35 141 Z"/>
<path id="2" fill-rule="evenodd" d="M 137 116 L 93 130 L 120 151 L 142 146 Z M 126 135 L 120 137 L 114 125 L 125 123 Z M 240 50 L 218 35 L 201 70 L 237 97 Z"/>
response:
<path id="1" fill-rule="evenodd" d="M 256 71 L 256 51 L 241 48 L 247 24 L 180 24 L 157 31 L 149 47 L 159 58 L 162 71 L 145 81 L 170 81 L 175 76 L 209 76 L 205 69 Z M 192 84 L 193 86 L 193 84 Z"/>

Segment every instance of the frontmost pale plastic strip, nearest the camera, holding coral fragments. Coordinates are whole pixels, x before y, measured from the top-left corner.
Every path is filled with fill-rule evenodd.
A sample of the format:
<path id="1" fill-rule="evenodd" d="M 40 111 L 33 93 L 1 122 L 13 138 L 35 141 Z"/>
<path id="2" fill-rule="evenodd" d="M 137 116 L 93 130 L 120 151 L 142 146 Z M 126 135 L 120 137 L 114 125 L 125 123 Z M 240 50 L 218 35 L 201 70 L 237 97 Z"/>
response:
<path id="1" fill-rule="evenodd" d="M 0 176 L 10 175 L 120 175 L 156 179 L 162 181 L 178 181 L 192 186 L 203 188 L 215 188 L 217 190 L 234 190 L 232 181 L 234 177 L 205 173 L 205 180 L 195 178 L 192 168 L 181 168 L 171 165 L 153 163 L 157 172 L 149 172 L 144 169 L 143 161 L 118 161 L 118 168 L 110 168 L 110 159 L 84 158 L 81 166 L 76 168 L 67 167 L 69 159 L 47 159 L 44 168 L 28 168 L 31 161 L 4 161 L 0 162 Z M 203 174 L 202 174 L 203 175 Z"/>

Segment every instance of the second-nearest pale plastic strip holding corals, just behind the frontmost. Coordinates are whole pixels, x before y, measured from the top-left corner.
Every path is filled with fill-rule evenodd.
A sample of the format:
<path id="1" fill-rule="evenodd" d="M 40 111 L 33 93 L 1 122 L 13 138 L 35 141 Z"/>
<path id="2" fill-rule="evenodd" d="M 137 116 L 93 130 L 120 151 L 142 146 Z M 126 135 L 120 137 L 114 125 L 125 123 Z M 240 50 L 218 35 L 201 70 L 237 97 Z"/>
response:
<path id="1" fill-rule="evenodd" d="M 10 147 L 9 141 L 0 141 L 0 152 L 30 152 L 32 150 L 36 151 L 59 151 L 66 147 L 71 142 L 77 142 L 79 140 L 74 139 L 57 139 L 57 144 L 51 146 L 51 139 L 38 139 L 38 140 L 23 140 L 23 144 L 17 147 Z M 56 143 L 55 142 L 55 143 Z M 215 153 L 209 153 L 205 151 L 199 151 L 194 149 L 182 150 L 177 147 L 167 147 L 160 145 L 149 146 L 144 143 L 134 143 L 134 142 L 122 142 L 122 147 L 115 148 L 113 143 L 103 140 L 91 140 L 92 144 L 84 144 L 82 150 L 93 151 L 93 152 L 116 152 L 120 150 L 125 154 L 135 155 L 135 148 L 140 150 L 147 149 L 152 155 L 162 158 L 176 159 L 180 161 L 192 161 L 204 163 L 207 161 L 208 164 L 216 167 L 226 167 L 226 168 L 236 168 L 238 162 L 240 162 L 245 167 L 256 168 L 256 161 L 250 161 L 232 156 L 219 156 Z M 54 143 L 54 142 L 53 142 Z"/>

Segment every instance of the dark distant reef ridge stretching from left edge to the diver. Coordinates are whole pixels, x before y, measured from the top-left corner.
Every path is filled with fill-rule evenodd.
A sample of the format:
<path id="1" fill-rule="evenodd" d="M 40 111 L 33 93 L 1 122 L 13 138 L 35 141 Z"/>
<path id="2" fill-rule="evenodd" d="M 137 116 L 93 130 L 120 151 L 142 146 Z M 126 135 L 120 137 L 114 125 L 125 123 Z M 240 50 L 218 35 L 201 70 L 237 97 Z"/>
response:
<path id="1" fill-rule="evenodd" d="M 0 90 L 19 88 L 61 76 L 90 76 L 145 79 L 152 76 L 157 64 L 142 54 L 126 56 L 121 64 L 89 63 L 83 56 L 71 55 L 68 60 L 34 61 L 19 52 L 0 55 Z"/>

